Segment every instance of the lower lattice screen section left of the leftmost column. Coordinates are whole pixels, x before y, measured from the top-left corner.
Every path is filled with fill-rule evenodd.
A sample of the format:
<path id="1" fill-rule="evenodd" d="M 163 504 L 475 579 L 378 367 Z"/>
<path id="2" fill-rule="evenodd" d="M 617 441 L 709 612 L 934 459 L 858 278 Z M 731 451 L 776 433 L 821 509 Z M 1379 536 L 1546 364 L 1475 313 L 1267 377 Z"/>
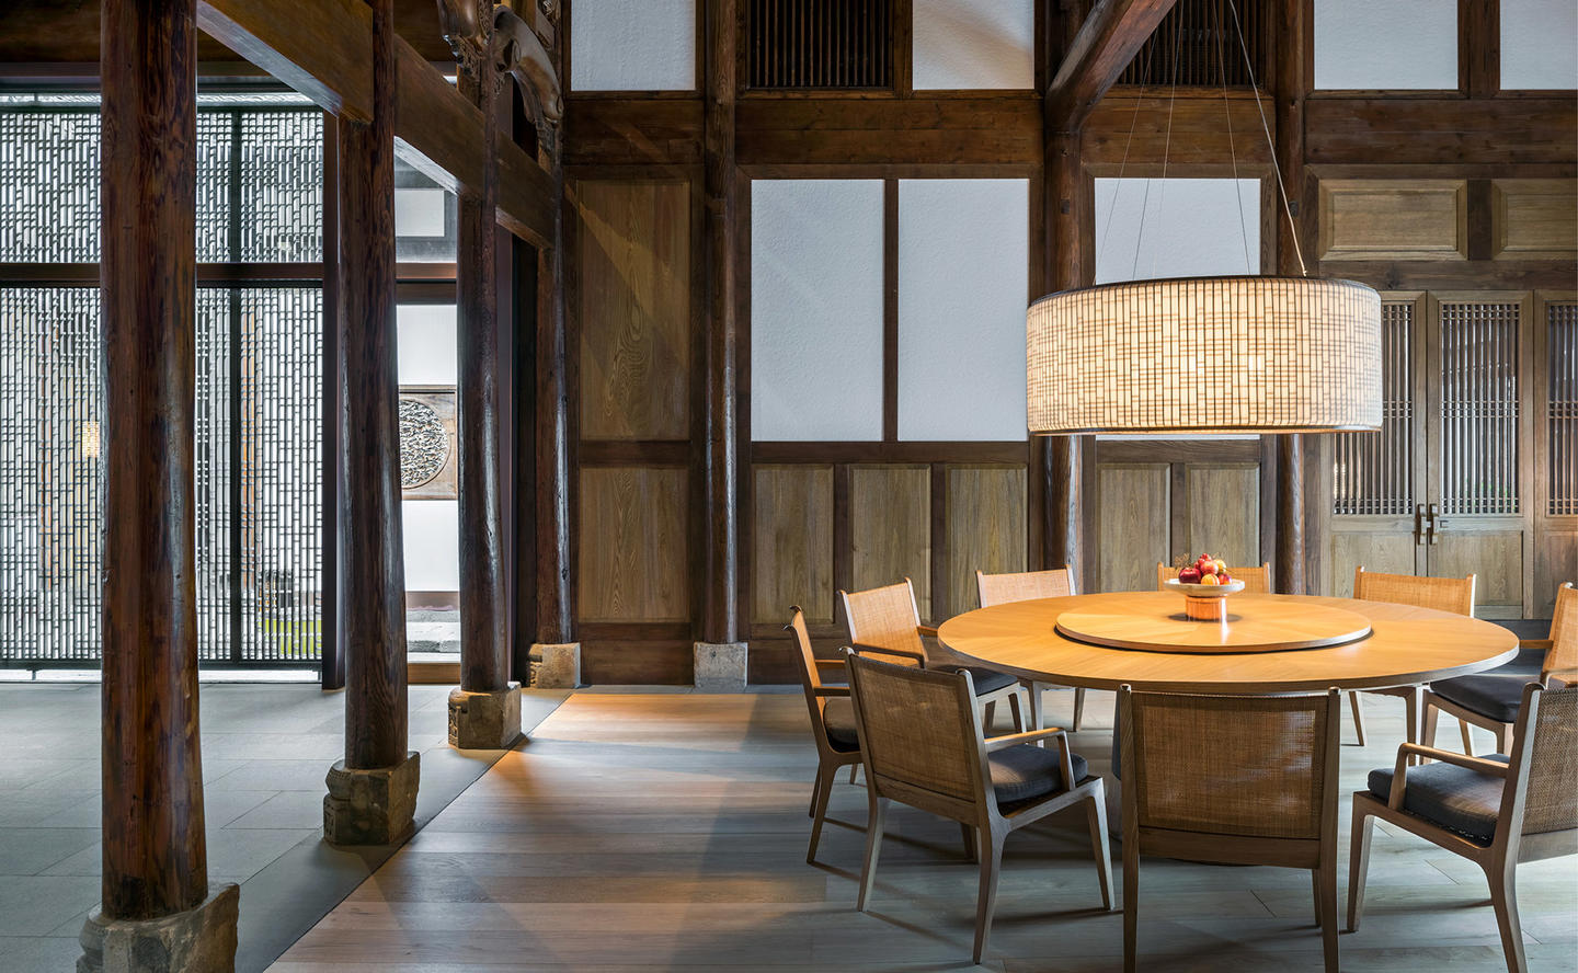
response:
<path id="1" fill-rule="evenodd" d="M 0 289 L 0 667 L 99 654 L 99 293 Z"/>

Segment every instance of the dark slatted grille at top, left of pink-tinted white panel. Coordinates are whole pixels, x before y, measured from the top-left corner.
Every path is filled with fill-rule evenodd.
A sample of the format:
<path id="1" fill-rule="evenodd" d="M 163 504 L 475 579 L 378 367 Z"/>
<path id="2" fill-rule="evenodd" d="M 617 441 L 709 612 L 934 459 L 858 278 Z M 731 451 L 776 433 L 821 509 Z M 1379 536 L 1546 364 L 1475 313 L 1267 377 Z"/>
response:
<path id="1" fill-rule="evenodd" d="M 892 88 L 892 0 L 750 0 L 753 88 Z"/>

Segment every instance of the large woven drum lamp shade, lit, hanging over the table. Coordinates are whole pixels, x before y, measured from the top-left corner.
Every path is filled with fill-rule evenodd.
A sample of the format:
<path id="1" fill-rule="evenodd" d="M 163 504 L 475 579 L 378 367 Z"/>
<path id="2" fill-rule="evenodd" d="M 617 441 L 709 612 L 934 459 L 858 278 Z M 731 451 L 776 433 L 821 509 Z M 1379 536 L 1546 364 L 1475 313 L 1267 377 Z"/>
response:
<path id="1" fill-rule="evenodd" d="M 1381 295 L 1322 278 L 1179 278 L 1026 314 L 1032 434 L 1381 427 Z"/>

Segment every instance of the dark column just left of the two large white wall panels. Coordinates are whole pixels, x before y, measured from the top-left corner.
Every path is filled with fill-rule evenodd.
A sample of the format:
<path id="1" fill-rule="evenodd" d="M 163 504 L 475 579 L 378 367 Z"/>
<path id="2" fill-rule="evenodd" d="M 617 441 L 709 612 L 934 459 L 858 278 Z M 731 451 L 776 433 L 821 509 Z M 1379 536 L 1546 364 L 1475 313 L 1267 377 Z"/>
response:
<path id="1" fill-rule="evenodd" d="M 739 374 L 735 350 L 734 276 L 735 166 L 734 99 L 735 0 L 707 0 L 707 91 L 704 192 L 707 218 L 704 252 L 707 270 L 705 396 L 701 418 L 701 470 L 704 508 L 704 574 L 701 640 L 739 642 Z"/>

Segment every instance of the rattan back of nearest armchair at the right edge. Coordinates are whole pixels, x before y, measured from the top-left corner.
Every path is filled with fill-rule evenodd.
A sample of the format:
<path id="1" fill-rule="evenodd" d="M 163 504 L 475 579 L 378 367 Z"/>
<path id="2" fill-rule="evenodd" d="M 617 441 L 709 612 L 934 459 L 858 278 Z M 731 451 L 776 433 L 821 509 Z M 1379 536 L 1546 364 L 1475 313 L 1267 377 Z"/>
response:
<path id="1" fill-rule="evenodd" d="M 1534 700 L 1537 702 L 1531 706 Z M 1524 770 L 1529 781 L 1523 803 L 1523 833 L 1545 834 L 1578 828 L 1578 686 L 1567 689 L 1528 686 L 1523 691 L 1523 710 L 1518 713 L 1513 740 L 1515 768 L 1521 763 L 1518 751 L 1524 746 L 1532 751 Z M 1504 801 L 1512 798 L 1512 790 L 1507 788 Z"/>

